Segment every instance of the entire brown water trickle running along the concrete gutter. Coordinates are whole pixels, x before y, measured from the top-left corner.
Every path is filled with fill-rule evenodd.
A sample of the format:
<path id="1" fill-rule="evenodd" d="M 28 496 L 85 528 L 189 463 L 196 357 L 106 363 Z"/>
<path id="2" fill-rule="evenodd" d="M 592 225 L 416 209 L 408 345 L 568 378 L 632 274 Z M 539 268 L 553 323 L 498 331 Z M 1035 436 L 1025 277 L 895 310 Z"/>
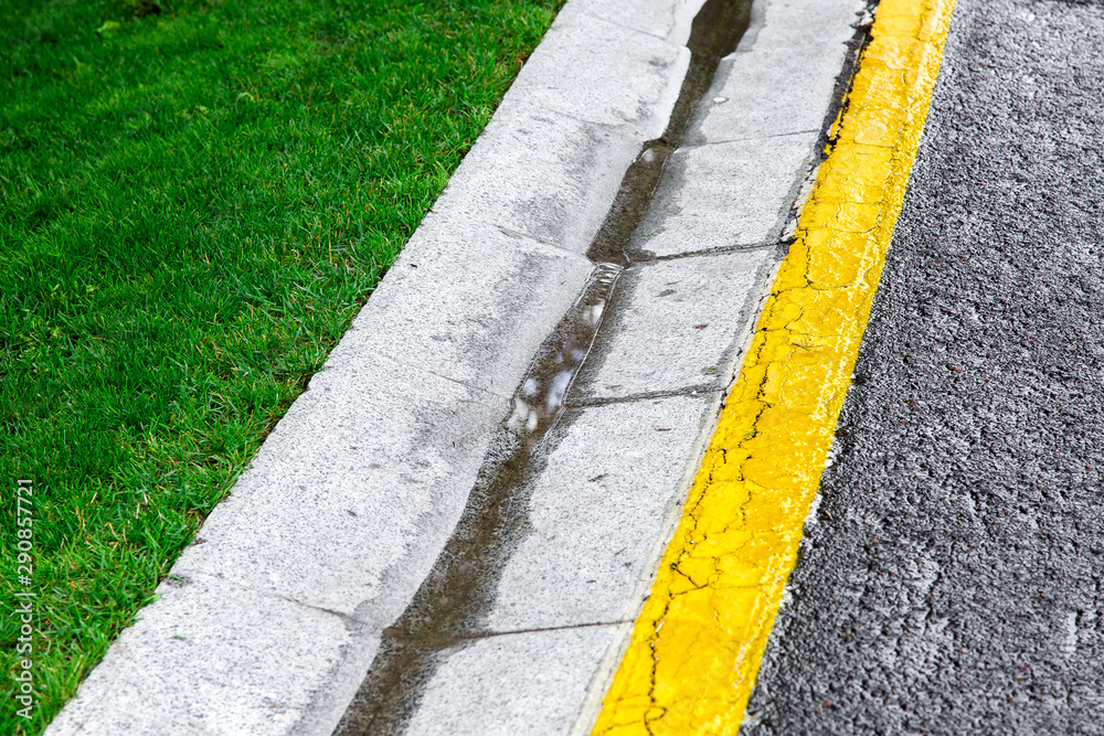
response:
<path id="1" fill-rule="evenodd" d="M 664 164 L 679 146 L 720 60 L 735 51 L 751 0 L 707 0 L 691 25 L 690 66 L 664 137 L 645 143 L 587 252 L 595 270 L 583 295 L 535 355 L 491 441 L 467 506 L 429 575 L 397 621 L 384 630 L 368 676 L 335 736 L 401 734 L 448 651 L 489 636 L 489 611 L 502 567 L 527 530 L 527 481 L 554 449 L 549 433 L 590 353 L 617 277 L 631 267 L 626 250 L 647 213 Z"/>

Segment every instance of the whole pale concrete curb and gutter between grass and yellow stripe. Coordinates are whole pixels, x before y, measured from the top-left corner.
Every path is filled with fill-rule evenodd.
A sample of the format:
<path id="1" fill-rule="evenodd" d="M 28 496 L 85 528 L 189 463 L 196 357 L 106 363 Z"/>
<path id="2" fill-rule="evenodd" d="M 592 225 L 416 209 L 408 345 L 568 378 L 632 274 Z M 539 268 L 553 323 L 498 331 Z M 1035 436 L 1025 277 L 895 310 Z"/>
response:
<path id="1" fill-rule="evenodd" d="M 866 11 L 570 0 L 49 733 L 587 733 Z"/>

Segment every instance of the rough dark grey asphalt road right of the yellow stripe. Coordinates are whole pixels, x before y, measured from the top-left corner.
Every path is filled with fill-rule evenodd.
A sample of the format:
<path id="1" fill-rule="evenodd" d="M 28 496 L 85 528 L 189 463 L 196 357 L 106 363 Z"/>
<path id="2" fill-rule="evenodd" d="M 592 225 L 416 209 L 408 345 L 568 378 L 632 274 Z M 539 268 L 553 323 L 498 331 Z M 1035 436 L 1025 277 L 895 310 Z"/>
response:
<path id="1" fill-rule="evenodd" d="M 1104 734 L 1104 2 L 958 0 L 745 734 Z"/>

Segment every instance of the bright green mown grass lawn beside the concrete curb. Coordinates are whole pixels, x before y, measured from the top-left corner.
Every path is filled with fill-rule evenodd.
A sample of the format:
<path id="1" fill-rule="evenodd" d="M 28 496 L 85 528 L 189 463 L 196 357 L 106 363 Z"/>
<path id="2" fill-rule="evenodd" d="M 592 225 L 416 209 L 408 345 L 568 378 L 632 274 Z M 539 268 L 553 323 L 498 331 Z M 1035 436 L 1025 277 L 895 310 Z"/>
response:
<path id="1" fill-rule="evenodd" d="M 559 2 L 0 0 L 0 733 L 150 600 Z"/>

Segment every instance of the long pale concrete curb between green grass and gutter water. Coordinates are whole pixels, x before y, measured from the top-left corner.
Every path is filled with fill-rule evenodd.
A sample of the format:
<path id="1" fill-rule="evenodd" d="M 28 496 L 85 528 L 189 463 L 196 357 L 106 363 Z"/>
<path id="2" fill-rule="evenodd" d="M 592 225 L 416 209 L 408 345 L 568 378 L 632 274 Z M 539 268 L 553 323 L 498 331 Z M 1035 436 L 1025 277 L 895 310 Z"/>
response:
<path id="1" fill-rule="evenodd" d="M 684 40 L 696 0 L 647 3 L 631 24 L 615 6 L 571 0 L 561 10 L 325 369 L 159 586 L 160 600 L 140 611 L 47 733 L 330 732 L 374 655 L 380 629 L 405 605 L 392 588 L 405 580 L 412 591 L 432 565 L 533 351 L 588 278 L 592 264 L 582 250 L 622 174 L 640 145 L 666 127 L 689 61 Z M 585 51 L 616 63 L 590 63 Z M 562 94 L 550 97 L 546 78 L 572 64 L 584 73 L 572 76 L 571 89 L 553 85 Z M 554 171 L 531 167 L 540 181 L 518 190 L 509 181 L 517 169 L 499 175 L 502 161 L 535 153 L 510 137 L 542 121 L 561 135 L 540 152 L 566 163 Z M 497 211 L 477 206 L 480 188 L 495 192 Z M 526 220 L 558 199 L 573 207 L 566 227 L 542 230 L 532 226 L 540 217 Z M 473 250 L 468 242 L 480 246 Z M 439 306 L 447 301 L 439 289 L 461 281 L 463 270 L 425 278 L 448 258 L 475 276 L 498 277 L 461 295 L 467 322 L 458 327 L 448 320 L 457 310 Z M 503 301 L 497 286 L 520 294 Z M 416 312 L 411 305 L 420 299 L 436 307 L 429 310 L 436 320 L 423 314 L 413 329 L 391 324 Z M 502 341 L 473 342 L 488 323 L 499 326 Z M 438 338 L 446 349 L 436 350 Z M 420 341 L 434 348 L 428 358 L 412 346 Z M 378 398 L 383 384 L 399 388 Z M 389 436 L 396 417 L 397 439 Z M 375 433 L 374 445 L 365 433 Z M 396 442 L 412 457 L 395 458 L 389 447 Z M 373 480 L 372 472 L 385 470 L 380 466 L 400 459 L 408 460 L 405 474 Z M 397 510 L 389 498 L 364 498 L 365 489 L 386 497 L 402 483 L 414 483 L 415 492 Z M 443 508 L 442 494 L 454 508 Z M 405 527 L 365 529 L 396 511 L 406 513 Z M 257 516 L 268 521 L 251 534 Z M 365 547 L 364 538 L 373 544 Z M 373 546 L 397 552 L 371 557 Z M 374 587 L 346 583 L 350 570 L 373 565 Z M 327 586 L 327 577 L 339 584 Z"/>

